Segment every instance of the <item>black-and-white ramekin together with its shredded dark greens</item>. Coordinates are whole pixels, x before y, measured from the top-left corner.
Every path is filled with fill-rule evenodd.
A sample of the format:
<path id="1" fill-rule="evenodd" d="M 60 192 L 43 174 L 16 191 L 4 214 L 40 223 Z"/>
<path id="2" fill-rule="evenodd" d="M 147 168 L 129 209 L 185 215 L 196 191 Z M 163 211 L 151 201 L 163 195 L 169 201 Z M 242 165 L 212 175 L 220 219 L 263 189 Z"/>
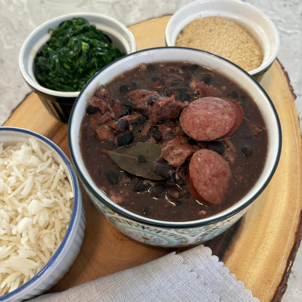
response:
<path id="1" fill-rule="evenodd" d="M 56 37 L 52 40 L 53 35 Z M 32 31 L 21 47 L 19 67 L 47 110 L 67 123 L 85 82 L 115 58 L 134 51 L 132 33 L 117 20 L 100 14 L 73 13 Z"/>

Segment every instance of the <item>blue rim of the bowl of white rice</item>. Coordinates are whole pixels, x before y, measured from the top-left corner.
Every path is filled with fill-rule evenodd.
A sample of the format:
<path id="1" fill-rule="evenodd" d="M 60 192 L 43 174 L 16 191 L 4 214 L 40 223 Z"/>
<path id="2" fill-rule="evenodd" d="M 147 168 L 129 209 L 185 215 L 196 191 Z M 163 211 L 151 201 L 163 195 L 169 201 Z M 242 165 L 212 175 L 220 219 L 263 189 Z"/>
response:
<path id="1" fill-rule="evenodd" d="M 80 193 L 80 189 L 79 189 L 79 183 L 78 183 L 78 179 L 76 176 L 76 172 L 75 172 L 70 160 L 55 143 L 53 143 L 47 137 L 44 137 L 43 135 L 41 135 L 39 133 L 36 133 L 31 130 L 23 129 L 23 128 L 0 127 L 0 131 L 14 131 L 14 132 L 18 132 L 18 133 L 29 134 L 32 137 L 37 137 L 38 139 L 42 140 L 43 142 L 47 143 L 47 145 L 52 147 L 55 150 L 55 152 L 57 152 L 59 154 L 59 156 L 63 159 L 63 161 L 65 162 L 65 164 L 68 167 L 70 177 L 72 179 L 72 189 L 73 189 L 73 195 L 74 195 L 70 222 L 69 222 L 68 228 L 66 230 L 66 233 L 62 239 L 62 242 L 59 244 L 58 249 L 51 256 L 51 258 L 47 261 L 47 263 L 43 266 L 43 268 L 41 268 L 40 271 L 38 271 L 37 274 L 34 275 L 34 277 L 30 278 L 27 282 L 20 285 L 14 291 L 7 293 L 3 296 L 0 296 L 0 302 L 5 302 L 7 299 L 13 298 L 17 294 L 22 294 L 22 291 L 25 290 L 31 284 L 34 284 L 34 282 L 38 282 L 39 279 L 44 275 L 44 273 L 46 273 L 51 268 L 53 263 L 56 262 L 56 260 L 61 256 L 63 249 L 66 247 L 67 241 L 73 232 L 73 227 L 75 226 L 76 216 L 77 216 L 78 212 L 81 210 L 81 207 L 80 207 L 81 206 L 81 204 L 80 204 L 81 193 Z M 1 134 L 1 132 L 0 132 L 0 134 Z M 29 294 L 29 293 L 24 292 L 24 294 Z M 20 298 L 22 298 L 22 297 L 20 297 Z"/>

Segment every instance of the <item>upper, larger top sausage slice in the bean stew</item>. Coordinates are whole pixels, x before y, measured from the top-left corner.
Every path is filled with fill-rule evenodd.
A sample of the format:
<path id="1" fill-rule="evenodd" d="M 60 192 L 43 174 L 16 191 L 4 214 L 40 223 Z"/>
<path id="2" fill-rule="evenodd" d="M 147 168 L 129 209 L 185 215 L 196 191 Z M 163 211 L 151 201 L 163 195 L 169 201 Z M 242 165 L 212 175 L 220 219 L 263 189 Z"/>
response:
<path id="1" fill-rule="evenodd" d="M 185 133 L 194 140 L 216 140 L 233 129 L 236 122 L 235 108 L 236 105 L 227 99 L 199 98 L 184 108 L 180 115 L 180 124 Z"/>

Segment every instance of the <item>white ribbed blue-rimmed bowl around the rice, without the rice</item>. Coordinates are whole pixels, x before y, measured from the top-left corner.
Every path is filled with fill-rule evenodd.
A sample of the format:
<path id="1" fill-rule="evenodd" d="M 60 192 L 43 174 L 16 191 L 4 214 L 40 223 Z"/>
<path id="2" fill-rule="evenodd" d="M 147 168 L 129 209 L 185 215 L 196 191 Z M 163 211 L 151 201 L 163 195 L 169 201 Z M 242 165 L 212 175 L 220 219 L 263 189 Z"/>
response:
<path id="1" fill-rule="evenodd" d="M 51 140 L 30 130 L 14 127 L 0 127 L 0 142 L 4 147 L 15 145 L 34 137 L 44 151 L 53 151 L 53 159 L 63 165 L 71 184 L 74 199 L 72 215 L 66 234 L 56 252 L 34 277 L 11 293 L 0 296 L 0 302 L 21 302 L 31 299 L 55 285 L 69 270 L 82 246 L 85 232 L 85 210 L 76 172 L 67 156 Z"/>

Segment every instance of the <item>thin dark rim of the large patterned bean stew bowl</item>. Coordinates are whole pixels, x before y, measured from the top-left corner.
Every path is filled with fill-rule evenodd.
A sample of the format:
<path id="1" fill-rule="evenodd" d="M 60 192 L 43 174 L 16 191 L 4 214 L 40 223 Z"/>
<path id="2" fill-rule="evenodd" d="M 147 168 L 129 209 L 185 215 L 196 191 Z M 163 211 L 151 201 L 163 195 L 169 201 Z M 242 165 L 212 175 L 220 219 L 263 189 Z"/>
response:
<path id="1" fill-rule="evenodd" d="M 109 203 L 107 200 L 105 200 L 101 194 L 99 194 L 100 191 L 96 191 L 91 185 L 90 183 L 87 181 L 87 179 L 85 178 L 85 176 L 83 175 L 83 173 L 81 172 L 81 170 L 79 169 L 79 166 L 76 162 L 76 158 L 75 155 L 73 153 L 72 150 L 72 144 L 71 144 L 71 124 L 73 121 L 73 113 L 75 111 L 76 105 L 79 101 L 80 96 L 83 94 L 83 92 L 85 91 L 85 88 L 90 84 L 90 82 L 92 82 L 92 80 L 98 76 L 99 73 L 101 73 L 104 69 L 108 68 L 108 66 L 111 66 L 112 64 L 116 63 L 117 61 L 120 61 L 122 59 L 125 59 L 129 56 L 133 56 L 136 55 L 138 53 L 142 53 L 142 52 L 146 52 L 149 51 L 151 52 L 152 50 L 157 50 L 157 49 L 167 49 L 167 50 L 171 50 L 171 49 L 186 49 L 186 50 L 190 50 L 190 51 L 198 51 L 201 53 L 205 53 L 209 56 L 214 56 L 215 58 L 218 58 L 220 60 L 226 61 L 228 63 L 230 63 L 231 65 L 235 66 L 237 69 L 241 70 L 246 76 L 248 76 L 253 82 L 254 84 L 257 86 L 258 89 L 260 89 L 260 91 L 265 95 L 265 97 L 267 98 L 268 102 L 271 105 L 272 111 L 274 113 L 275 116 L 275 120 L 278 126 L 278 138 L 279 138 L 279 143 L 278 143 L 278 150 L 276 153 L 276 158 L 275 158 L 275 163 L 274 166 L 272 167 L 272 170 L 270 172 L 270 174 L 268 175 L 266 181 L 264 182 L 264 184 L 262 185 L 262 187 L 259 189 L 259 191 L 257 191 L 256 194 L 254 194 L 250 199 L 248 199 L 244 204 L 242 204 L 240 207 L 236 207 L 234 208 L 230 213 L 223 215 L 221 217 L 218 218 L 212 218 L 210 217 L 206 217 L 204 219 L 199 219 L 199 220 L 190 220 L 190 221 L 168 221 L 168 220 L 156 220 L 156 219 L 152 219 L 152 218 L 147 218 L 147 217 L 143 217 L 139 214 L 133 213 L 129 210 L 129 214 L 125 212 L 126 209 L 124 209 L 123 207 L 118 206 L 117 204 L 115 204 L 113 201 L 111 201 L 111 203 Z M 189 61 L 189 60 L 188 60 Z M 157 62 L 160 62 L 160 60 L 158 60 Z M 83 117 L 84 117 L 84 112 L 83 112 Z M 82 120 L 81 120 L 82 122 Z M 136 220 L 142 223 L 148 223 L 151 225 L 155 225 L 155 226 L 162 226 L 162 227 L 171 227 L 171 228 L 187 228 L 187 227 L 192 227 L 192 226 L 204 226 L 204 225 L 208 225 L 211 223 L 215 223 L 224 219 L 227 219 L 235 214 L 237 214 L 238 212 L 240 212 L 241 210 L 243 210 L 244 208 L 246 208 L 247 206 L 249 206 L 249 204 L 251 204 L 261 193 L 262 191 L 265 189 L 265 187 L 268 185 L 268 183 L 270 182 L 271 178 L 273 177 L 276 169 L 277 169 L 277 165 L 280 159 L 280 155 L 281 155 L 281 146 L 282 146 L 282 133 L 281 133 L 281 124 L 280 124 L 280 120 L 276 111 L 276 108 L 273 104 L 273 102 L 271 101 L 270 97 L 268 96 L 268 94 L 265 92 L 265 90 L 262 88 L 262 86 L 248 73 L 246 72 L 244 69 L 242 69 L 241 67 L 237 66 L 235 63 L 224 59 L 223 57 L 217 56 L 213 53 L 209 53 L 207 51 L 204 50 L 199 50 L 199 49 L 194 49 L 194 48 L 188 48 L 188 47 L 175 47 L 175 46 L 165 46 L 165 47 L 153 47 L 153 48 L 149 48 L 149 49 L 144 49 L 144 50 L 139 50 L 135 53 L 130 53 L 129 55 L 126 55 L 122 58 L 119 58 L 117 60 L 115 60 L 114 62 L 108 64 L 107 66 L 105 66 L 104 68 L 102 68 L 100 71 L 98 71 L 86 84 L 85 86 L 82 88 L 81 92 L 79 93 L 78 97 L 76 98 L 76 101 L 74 102 L 74 105 L 72 107 L 71 113 L 70 113 L 70 117 L 69 117 L 69 122 L 68 122 L 68 147 L 69 147 L 69 153 L 71 156 L 71 160 L 75 166 L 76 172 L 78 173 L 79 177 L 81 178 L 82 182 L 85 184 L 85 186 L 87 188 L 89 188 L 94 194 L 95 196 L 97 196 L 98 198 L 100 198 L 104 204 L 110 208 L 113 209 L 115 212 L 117 212 L 118 214 L 121 214 L 123 216 L 126 216 L 128 219 L 131 220 Z M 88 172 L 88 171 L 87 171 Z M 88 172 L 89 174 L 89 172 Z M 109 199 L 109 198 L 108 198 Z M 236 204 L 235 204 L 236 205 Z M 227 209 L 226 209 L 227 210 Z M 132 214 L 132 215 L 131 215 Z M 218 213 L 219 214 L 219 213 Z M 204 221 L 206 220 L 206 221 Z"/>

